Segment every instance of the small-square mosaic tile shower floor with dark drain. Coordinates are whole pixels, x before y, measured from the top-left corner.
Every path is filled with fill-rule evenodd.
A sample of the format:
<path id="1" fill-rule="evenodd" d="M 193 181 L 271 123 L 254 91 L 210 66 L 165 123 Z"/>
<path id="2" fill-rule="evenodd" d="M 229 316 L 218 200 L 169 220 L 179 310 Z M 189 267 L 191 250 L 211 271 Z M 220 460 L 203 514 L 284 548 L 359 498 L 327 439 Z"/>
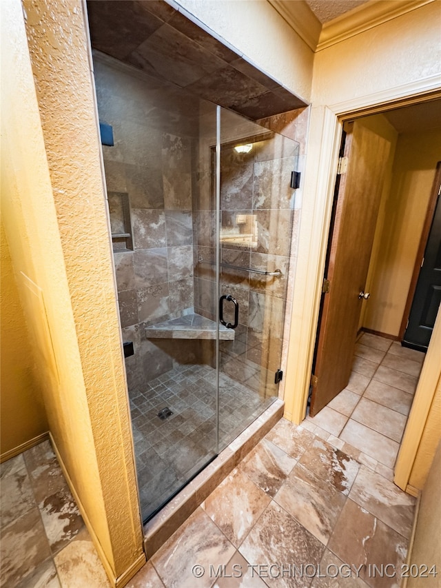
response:
<path id="1" fill-rule="evenodd" d="M 274 398 L 219 376 L 219 445 L 225 447 Z M 130 392 L 136 470 L 143 517 L 161 507 L 216 455 L 216 370 L 181 365 Z M 161 420 L 158 412 L 172 415 Z M 219 449 L 219 450 L 220 450 Z"/>

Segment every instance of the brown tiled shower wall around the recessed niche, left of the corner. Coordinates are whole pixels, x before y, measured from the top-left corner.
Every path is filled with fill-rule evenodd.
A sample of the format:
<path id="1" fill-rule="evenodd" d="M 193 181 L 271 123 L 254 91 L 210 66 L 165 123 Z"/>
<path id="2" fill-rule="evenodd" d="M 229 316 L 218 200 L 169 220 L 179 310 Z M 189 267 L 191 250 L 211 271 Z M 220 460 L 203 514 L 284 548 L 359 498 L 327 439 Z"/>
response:
<path id="1" fill-rule="evenodd" d="M 113 61 L 113 60 L 112 60 Z M 194 307 L 192 145 L 198 132 L 194 100 L 116 61 L 95 59 L 100 121 L 112 125 L 114 146 L 103 145 L 107 192 L 128 194 L 133 250 L 115 251 L 129 389 L 194 361 L 198 342 L 145 338 L 145 324 Z M 196 111 L 196 112 L 195 112 Z M 196 119 L 192 118 L 196 115 Z"/>

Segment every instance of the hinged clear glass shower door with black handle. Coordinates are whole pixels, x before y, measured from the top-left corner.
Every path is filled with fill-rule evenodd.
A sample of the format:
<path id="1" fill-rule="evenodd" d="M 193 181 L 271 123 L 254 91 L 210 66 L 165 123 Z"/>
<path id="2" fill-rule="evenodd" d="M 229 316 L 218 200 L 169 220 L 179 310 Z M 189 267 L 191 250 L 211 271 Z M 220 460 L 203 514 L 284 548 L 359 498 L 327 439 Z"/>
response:
<path id="1" fill-rule="evenodd" d="M 278 396 L 298 143 L 222 110 L 220 144 L 222 449 Z"/>

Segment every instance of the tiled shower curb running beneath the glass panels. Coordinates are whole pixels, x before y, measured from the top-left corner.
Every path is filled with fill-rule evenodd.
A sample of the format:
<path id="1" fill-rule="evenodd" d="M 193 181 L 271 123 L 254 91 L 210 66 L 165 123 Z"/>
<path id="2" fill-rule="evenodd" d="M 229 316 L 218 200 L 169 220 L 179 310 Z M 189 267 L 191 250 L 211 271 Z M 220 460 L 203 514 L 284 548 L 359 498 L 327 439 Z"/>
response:
<path id="1" fill-rule="evenodd" d="M 167 541 L 205 498 L 228 476 L 283 416 L 285 403 L 276 400 L 240 433 L 174 496 L 157 509 L 144 525 L 144 549 L 147 559 Z"/>

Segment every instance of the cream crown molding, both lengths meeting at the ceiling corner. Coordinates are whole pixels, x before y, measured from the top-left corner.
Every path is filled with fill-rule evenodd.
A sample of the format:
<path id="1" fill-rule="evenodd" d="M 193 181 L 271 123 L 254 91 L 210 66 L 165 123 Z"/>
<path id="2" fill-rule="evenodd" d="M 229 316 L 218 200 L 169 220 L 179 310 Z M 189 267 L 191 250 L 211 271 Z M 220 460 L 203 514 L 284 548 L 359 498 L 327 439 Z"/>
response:
<path id="1" fill-rule="evenodd" d="M 369 0 L 322 25 L 305 0 L 268 0 L 314 52 L 345 41 L 435 0 Z"/>

